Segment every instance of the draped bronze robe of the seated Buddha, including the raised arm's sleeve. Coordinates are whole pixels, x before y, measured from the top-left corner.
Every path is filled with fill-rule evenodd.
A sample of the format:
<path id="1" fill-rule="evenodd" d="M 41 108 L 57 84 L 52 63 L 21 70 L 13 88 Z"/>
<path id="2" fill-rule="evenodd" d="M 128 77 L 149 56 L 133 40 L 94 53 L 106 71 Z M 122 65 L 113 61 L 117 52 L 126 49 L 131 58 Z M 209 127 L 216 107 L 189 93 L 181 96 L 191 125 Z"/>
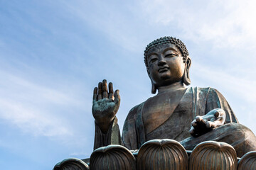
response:
<path id="1" fill-rule="evenodd" d="M 171 93 L 175 93 L 175 91 Z M 171 93 L 169 96 L 170 99 L 172 96 Z M 169 118 L 166 118 L 166 120 L 146 133 L 143 114 L 149 100 L 151 100 L 151 98 L 129 111 L 124 122 L 122 137 L 120 137 L 117 118 L 114 118 L 106 134 L 103 134 L 97 124 L 95 124 L 95 149 L 97 149 L 97 147 L 117 144 L 124 145 L 128 149 L 134 150 L 139 149 L 139 147 L 148 140 L 172 139 L 181 142 L 186 149 L 193 149 L 199 142 L 215 140 L 228 142 L 230 145 L 233 145 L 236 150 L 243 146 L 241 153 L 239 151 L 238 155 L 242 155 L 244 152 L 246 153 L 253 149 L 256 150 L 255 135 L 245 126 L 238 124 L 238 119 L 235 117 L 228 102 L 223 95 L 215 89 L 210 87 L 189 87 L 178 101 L 170 103 L 172 104 L 172 109 L 169 113 Z M 216 128 L 200 137 L 191 137 L 189 130 L 191 128 L 191 122 L 196 118 L 196 115 L 206 115 L 206 113 L 214 108 L 222 108 L 225 111 L 226 125 L 222 125 L 220 128 Z M 230 130 L 233 131 L 231 132 L 233 135 L 237 135 L 238 137 L 242 135 L 250 135 L 252 137 L 250 137 L 250 141 L 240 139 L 240 142 L 237 142 L 238 137 L 230 136 Z M 232 139 L 230 139 L 230 137 Z M 248 146 L 245 146 L 245 144 Z"/>

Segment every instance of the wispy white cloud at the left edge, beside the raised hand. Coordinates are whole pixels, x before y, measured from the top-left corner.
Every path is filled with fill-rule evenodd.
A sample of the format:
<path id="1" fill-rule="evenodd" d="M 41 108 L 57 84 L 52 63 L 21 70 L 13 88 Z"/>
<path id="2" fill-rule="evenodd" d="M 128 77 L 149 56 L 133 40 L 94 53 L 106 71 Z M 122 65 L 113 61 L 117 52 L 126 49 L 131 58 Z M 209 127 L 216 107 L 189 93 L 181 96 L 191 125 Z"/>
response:
<path id="1" fill-rule="evenodd" d="M 1 119 L 33 135 L 73 135 L 65 116 L 61 116 L 54 107 L 80 107 L 78 99 L 59 89 L 34 84 L 13 74 L 1 71 L 0 76 Z"/>

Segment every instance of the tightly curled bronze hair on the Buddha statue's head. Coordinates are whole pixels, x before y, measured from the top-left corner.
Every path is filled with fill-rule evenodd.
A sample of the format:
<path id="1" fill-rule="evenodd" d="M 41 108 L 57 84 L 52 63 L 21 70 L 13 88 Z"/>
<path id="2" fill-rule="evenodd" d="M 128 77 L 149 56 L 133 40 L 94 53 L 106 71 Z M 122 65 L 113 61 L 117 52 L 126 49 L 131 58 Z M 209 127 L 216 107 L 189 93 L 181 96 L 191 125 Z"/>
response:
<path id="1" fill-rule="evenodd" d="M 184 45 L 184 43 L 181 40 L 173 38 L 173 37 L 159 38 L 159 39 L 156 39 L 156 40 L 150 42 L 149 45 L 146 46 L 146 50 L 144 51 L 144 62 L 146 64 L 146 70 L 148 73 L 149 73 L 149 64 L 147 63 L 147 52 L 149 52 L 149 50 L 152 47 L 169 44 L 169 43 L 174 44 L 178 47 L 178 50 L 181 51 L 181 54 L 183 56 L 183 60 L 186 61 L 186 57 L 188 56 L 188 50 L 186 49 L 186 45 Z"/>

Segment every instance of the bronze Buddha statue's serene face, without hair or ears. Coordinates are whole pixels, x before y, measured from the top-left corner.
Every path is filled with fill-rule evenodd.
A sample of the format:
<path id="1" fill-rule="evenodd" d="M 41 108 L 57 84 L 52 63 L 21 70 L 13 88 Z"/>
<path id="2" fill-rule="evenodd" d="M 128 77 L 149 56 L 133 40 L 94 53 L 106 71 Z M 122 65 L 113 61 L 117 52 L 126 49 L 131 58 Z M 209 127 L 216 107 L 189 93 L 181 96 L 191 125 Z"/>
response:
<path id="1" fill-rule="evenodd" d="M 181 81 L 185 63 L 176 45 L 159 45 L 151 48 L 148 54 L 149 77 L 156 87 Z"/>

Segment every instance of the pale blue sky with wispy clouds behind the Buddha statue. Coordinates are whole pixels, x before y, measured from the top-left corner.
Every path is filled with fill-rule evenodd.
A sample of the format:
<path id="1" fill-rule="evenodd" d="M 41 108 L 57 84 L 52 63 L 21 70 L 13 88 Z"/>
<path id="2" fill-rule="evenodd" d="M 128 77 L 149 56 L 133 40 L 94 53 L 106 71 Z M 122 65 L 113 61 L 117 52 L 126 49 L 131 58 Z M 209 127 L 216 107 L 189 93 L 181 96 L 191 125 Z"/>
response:
<path id="1" fill-rule="evenodd" d="M 256 133 L 255 1 L 0 0 L 1 169 L 52 169 L 90 157 L 92 91 L 120 90 L 122 129 L 151 96 L 144 47 L 185 42 L 191 86 L 211 86 Z"/>

